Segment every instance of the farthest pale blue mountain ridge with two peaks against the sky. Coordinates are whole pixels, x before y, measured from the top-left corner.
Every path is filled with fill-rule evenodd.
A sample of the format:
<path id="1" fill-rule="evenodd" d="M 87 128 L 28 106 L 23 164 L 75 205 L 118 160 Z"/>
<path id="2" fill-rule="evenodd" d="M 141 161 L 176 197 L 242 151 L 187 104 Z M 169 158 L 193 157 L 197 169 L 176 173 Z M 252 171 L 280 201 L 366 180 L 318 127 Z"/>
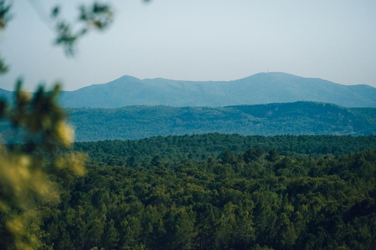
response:
<path id="1" fill-rule="evenodd" d="M 0 91 L 9 96 L 11 92 Z M 129 105 L 224 107 L 296 101 L 328 102 L 344 107 L 376 107 L 376 88 L 341 85 L 320 78 L 282 72 L 251 75 L 233 81 L 138 79 L 125 75 L 105 84 L 62 91 L 64 107 L 118 108 Z"/>

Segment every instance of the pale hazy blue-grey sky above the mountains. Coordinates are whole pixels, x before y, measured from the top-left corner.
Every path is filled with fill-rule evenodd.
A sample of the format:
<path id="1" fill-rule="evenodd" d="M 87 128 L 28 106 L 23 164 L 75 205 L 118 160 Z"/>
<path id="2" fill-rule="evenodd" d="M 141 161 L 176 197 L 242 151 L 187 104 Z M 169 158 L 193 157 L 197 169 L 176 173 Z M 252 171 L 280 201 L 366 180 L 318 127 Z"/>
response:
<path id="1" fill-rule="evenodd" d="M 77 5 L 92 1 L 15 0 L 0 33 L 0 55 L 11 66 L 0 76 L 4 89 L 20 75 L 27 90 L 55 80 L 75 90 L 122 75 L 235 80 L 268 69 L 376 87 L 375 0 L 111 1 L 115 22 L 83 38 L 74 58 L 53 46 L 55 34 L 30 2 L 39 15 L 61 2 L 73 20 Z"/>

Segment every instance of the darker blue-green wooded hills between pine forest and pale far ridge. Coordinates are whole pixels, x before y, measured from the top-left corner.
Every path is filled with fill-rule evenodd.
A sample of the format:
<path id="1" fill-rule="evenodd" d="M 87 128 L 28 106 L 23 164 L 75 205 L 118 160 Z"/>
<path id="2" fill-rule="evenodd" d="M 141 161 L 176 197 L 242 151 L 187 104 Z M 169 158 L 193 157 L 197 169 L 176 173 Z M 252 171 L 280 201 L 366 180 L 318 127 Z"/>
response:
<path id="1" fill-rule="evenodd" d="M 67 113 L 76 141 L 206 133 L 376 135 L 376 108 L 344 108 L 321 102 L 217 108 L 143 105 L 67 108 Z M 9 125 L 0 122 L 0 131 L 7 142 L 18 140 Z"/>

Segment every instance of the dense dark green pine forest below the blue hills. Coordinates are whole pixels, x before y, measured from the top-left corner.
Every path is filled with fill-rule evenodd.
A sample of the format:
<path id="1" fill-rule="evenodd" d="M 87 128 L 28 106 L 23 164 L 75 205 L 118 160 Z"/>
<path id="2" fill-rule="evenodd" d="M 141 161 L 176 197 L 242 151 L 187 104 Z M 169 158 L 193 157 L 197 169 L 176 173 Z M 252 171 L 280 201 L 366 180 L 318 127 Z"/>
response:
<path id="1" fill-rule="evenodd" d="M 29 230 L 38 249 L 374 249 L 375 149 L 375 136 L 74 143 L 58 154 L 87 154 L 86 174 L 51 169 L 59 202 L 38 203 Z"/>

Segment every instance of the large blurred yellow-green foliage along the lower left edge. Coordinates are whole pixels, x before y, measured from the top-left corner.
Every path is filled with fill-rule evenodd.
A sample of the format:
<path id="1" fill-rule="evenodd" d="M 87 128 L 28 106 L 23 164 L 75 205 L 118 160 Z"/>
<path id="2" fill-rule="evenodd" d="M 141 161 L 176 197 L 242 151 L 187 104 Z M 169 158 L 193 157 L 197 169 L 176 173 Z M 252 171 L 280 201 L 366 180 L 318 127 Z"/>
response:
<path id="1" fill-rule="evenodd" d="M 84 175 L 85 155 L 70 152 L 56 154 L 69 148 L 73 130 L 65 123 L 64 111 L 56 105 L 59 84 L 52 91 L 39 87 L 33 97 L 17 83 L 15 103 L 9 108 L 0 101 L 0 119 L 9 120 L 15 129 L 28 131 L 25 150 L 0 145 L 0 227 L 1 244 L 5 249 L 52 249 L 42 239 L 49 236 L 39 228 L 40 206 L 59 204 L 60 187 L 50 174 Z M 37 152 L 44 152 L 44 158 Z"/>

